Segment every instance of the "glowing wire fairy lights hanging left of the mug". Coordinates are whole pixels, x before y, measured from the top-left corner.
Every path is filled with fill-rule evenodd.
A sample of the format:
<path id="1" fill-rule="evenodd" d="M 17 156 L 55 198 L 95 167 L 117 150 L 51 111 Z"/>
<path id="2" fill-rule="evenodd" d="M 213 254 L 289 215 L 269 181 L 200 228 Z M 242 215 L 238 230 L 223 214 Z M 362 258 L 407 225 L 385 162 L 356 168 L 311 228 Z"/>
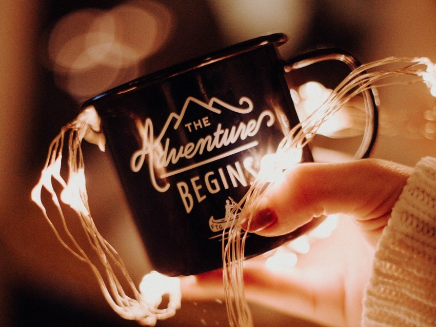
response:
<path id="1" fill-rule="evenodd" d="M 68 134 L 67 137 L 66 134 Z M 88 264 L 111 308 L 125 319 L 137 320 L 142 325 L 154 326 L 157 320 L 173 316 L 180 308 L 182 296 L 180 280 L 152 272 L 144 277 L 141 293 L 136 289 L 120 256 L 98 232 L 89 211 L 81 149 L 83 138 L 104 149 L 104 136 L 100 131 L 100 120 L 93 107 L 86 108 L 77 116 L 76 120 L 65 126 L 52 141 L 46 165 L 41 172 L 41 178 L 31 192 L 31 198 L 42 210 L 57 240 L 76 258 Z M 64 145 L 66 139 L 68 146 Z M 68 162 L 67 182 L 61 175 L 64 148 L 69 150 L 68 158 L 65 160 Z M 58 184 L 62 189 L 56 191 L 57 187 L 53 187 L 53 183 Z M 57 219 L 61 222 L 58 225 L 61 226 L 62 231 L 55 227 L 56 224 L 53 223 L 52 217 L 49 217 L 45 209 L 41 196 L 43 192 L 51 196 L 53 205 L 57 209 Z M 58 195 L 59 192 L 60 195 Z M 69 230 L 70 221 L 66 218 L 65 206 L 61 206 L 59 199 L 74 211 L 77 220 L 73 220 L 73 222 L 82 226 L 82 232 L 86 235 L 86 239 L 94 251 L 95 260 L 100 260 L 102 268 L 97 268 L 87 253 L 90 250 L 85 250 L 88 247 L 82 248 Z M 56 218 L 56 215 L 53 218 Z M 126 282 L 125 288 L 130 292 L 125 292 L 123 289 L 124 282 Z M 131 293 L 131 296 L 127 293 Z M 166 308 L 161 309 L 159 306 L 163 295 L 169 296 L 169 302 Z"/>

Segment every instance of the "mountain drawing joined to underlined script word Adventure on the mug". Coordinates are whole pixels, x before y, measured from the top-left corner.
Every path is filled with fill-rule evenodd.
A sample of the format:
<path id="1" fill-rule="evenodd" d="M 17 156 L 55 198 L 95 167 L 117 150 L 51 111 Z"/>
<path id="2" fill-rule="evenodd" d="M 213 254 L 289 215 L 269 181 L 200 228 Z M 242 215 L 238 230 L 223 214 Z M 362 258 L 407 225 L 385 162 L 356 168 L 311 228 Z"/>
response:
<path id="1" fill-rule="evenodd" d="M 274 124 L 275 115 L 270 110 L 262 111 L 257 118 L 250 117 L 251 119 L 248 122 L 239 121 L 236 122 L 235 125 L 224 129 L 221 124 L 217 124 L 214 132 L 209 131 L 207 135 L 201 136 L 195 141 L 174 146 L 170 145 L 170 131 L 172 128 L 176 130 L 180 127 L 188 112 L 188 108 L 189 112 L 195 110 L 195 112 L 192 111 L 192 113 L 195 114 L 202 108 L 215 114 L 221 114 L 225 109 L 240 114 L 247 114 L 253 110 L 253 103 L 248 97 L 241 97 L 239 104 L 241 107 L 235 107 L 216 97 L 211 98 L 208 103 L 194 97 L 188 97 L 185 100 L 180 114 L 169 114 L 164 127 L 157 137 L 154 136 L 153 122 L 150 118 L 146 118 L 144 122 L 137 120 L 136 126 L 143 139 L 143 146 L 132 154 L 130 158 L 131 170 L 133 172 L 138 172 L 143 164 L 147 162 L 149 171 L 154 172 L 150 174 L 153 186 L 156 190 L 165 192 L 168 190 L 169 183 L 167 182 L 165 187 L 161 187 L 157 184 L 157 177 L 163 180 L 167 177 L 189 171 L 209 164 L 210 162 L 256 147 L 259 145 L 259 141 L 256 139 L 251 139 L 250 141 L 249 139 L 254 137 L 260 131 L 263 122 L 265 122 L 267 127 L 271 127 Z M 187 127 L 189 125 L 184 126 Z M 175 137 L 177 138 L 177 136 Z M 243 144 L 239 141 L 243 141 Z M 179 142 L 180 139 L 177 140 L 177 143 Z M 215 151 L 216 149 L 221 150 Z M 203 154 L 206 153 L 207 156 L 203 156 Z M 202 159 L 193 159 L 196 155 L 203 157 Z M 149 158 L 147 161 L 146 157 Z M 168 169 L 170 166 L 172 167 L 171 170 Z"/>

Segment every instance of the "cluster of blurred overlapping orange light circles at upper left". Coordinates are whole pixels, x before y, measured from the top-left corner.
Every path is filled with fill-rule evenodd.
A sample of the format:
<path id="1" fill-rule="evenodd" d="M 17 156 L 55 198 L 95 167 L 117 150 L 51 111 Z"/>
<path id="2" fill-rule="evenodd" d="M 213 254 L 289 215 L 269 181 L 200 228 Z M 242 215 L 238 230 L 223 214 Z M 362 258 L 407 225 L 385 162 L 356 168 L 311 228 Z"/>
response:
<path id="1" fill-rule="evenodd" d="M 171 30 L 172 15 L 158 3 L 127 2 L 106 11 L 72 12 L 56 23 L 49 37 L 57 86 L 83 100 L 133 79 Z"/>

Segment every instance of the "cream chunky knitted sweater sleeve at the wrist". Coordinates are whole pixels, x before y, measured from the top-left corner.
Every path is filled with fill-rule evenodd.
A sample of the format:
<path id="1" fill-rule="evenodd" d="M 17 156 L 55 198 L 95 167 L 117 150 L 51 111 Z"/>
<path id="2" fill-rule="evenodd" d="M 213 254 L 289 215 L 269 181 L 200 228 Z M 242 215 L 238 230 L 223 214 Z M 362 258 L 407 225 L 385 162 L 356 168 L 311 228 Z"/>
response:
<path id="1" fill-rule="evenodd" d="M 436 158 L 419 161 L 375 252 L 362 326 L 436 326 Z"/>

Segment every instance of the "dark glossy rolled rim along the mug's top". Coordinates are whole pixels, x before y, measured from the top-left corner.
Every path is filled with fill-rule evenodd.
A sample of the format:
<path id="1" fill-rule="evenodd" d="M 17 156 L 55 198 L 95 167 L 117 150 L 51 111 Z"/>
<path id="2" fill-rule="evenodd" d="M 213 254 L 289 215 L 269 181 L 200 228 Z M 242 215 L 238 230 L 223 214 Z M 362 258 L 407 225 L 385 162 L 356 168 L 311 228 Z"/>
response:
<path id="1" fill-rule="evenodd" d="M 110 97 L 111 95 L 119 95 L 137 90 L 140 87 L 146 87 L 152 83 L 158 83 L 161 80 L 183 74 L 185 72 L 213 64 L 220 60 L 239 55 L 244 52 L 254 50 L 256 48 L 264 47 L 270 44 L 278 44 L 279 46 L 286 43 L 288 37 L 283 33 L 273 33 L 269 35 L 259 36 L 246 40 L 244 42 L 236 43 L 225 47 L 221 50 L 211 52 L 209 54 L 187 60 L 185 62 L 169 66 L 167 68 L 158 70 L 156 72 L 145 74 L 143 76 L 132 79 L 124 84 L 115 86 L 107 91 L 97 94 L 82 104 L 82 108 L 93 105 L 95 101 Z"/>

